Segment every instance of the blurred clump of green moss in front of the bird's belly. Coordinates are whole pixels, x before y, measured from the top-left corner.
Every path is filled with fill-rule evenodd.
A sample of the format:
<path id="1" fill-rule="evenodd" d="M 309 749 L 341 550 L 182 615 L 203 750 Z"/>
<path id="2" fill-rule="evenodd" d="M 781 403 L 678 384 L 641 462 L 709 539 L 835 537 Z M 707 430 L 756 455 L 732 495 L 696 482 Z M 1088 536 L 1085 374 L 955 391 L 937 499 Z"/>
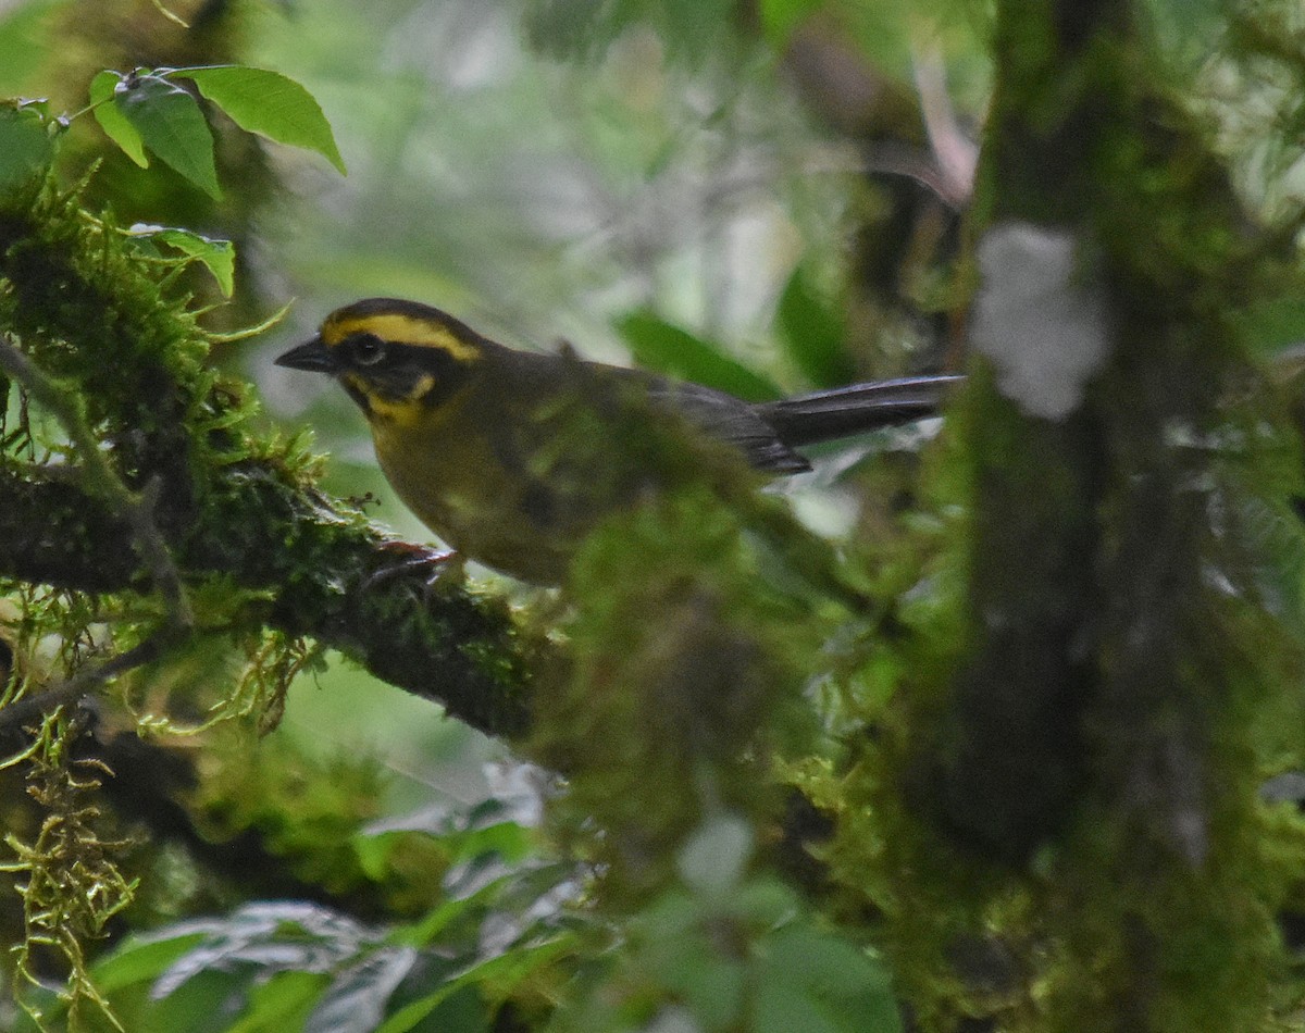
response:
<path id="1" fill-rule="evenodd" d="M 573 565 L 570 663 L 536 698 L 532 749 L 569 775 L 559 813 L 604 830 L 613 897 L 664 886 L 705 815 L 774 803 L 763 758 L 803 736 L 822 621 L 769 553 L 699 484 L 608 520 Z"/>

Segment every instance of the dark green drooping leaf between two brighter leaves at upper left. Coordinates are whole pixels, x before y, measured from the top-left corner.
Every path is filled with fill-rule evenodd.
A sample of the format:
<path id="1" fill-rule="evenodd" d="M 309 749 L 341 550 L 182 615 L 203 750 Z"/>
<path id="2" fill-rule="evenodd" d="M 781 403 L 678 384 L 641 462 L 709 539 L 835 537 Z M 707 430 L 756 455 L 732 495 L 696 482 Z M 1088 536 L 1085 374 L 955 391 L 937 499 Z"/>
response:
<path id="1" fill-rule="evenodd" d="M 114 87 L 114 103 L 162 162 L 209 197 L 222 197 L 213 166 L 213 133 L 191 94 L 161 76 L 132 74 Z"/>

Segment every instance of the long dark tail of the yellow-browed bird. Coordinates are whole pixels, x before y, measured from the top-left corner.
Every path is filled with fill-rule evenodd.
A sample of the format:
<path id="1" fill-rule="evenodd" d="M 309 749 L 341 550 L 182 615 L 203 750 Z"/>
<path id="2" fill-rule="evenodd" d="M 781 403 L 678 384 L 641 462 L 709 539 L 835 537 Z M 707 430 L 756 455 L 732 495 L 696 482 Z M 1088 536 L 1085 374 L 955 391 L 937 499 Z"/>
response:
<path id="1" fill-rule="evenodd" d="M 786 445 L 797 447 L 936 416 L 944 395 L 963 380 L 940 374 L 853 383 L 763 402 L 753 410 Z"/>

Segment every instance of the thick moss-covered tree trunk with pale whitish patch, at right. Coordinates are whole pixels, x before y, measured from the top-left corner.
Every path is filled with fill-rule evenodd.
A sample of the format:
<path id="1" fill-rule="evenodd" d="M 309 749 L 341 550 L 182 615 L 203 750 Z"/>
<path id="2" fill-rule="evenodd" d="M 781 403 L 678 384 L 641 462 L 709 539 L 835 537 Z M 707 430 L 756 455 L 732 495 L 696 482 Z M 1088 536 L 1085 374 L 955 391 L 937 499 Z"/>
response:
<path id="1" fill-rule="evenodd" d="M 1268 432 L 1238 415 L 1235 313 L 1263 245 L 1138 17 L 998 4 L 955 430 L 964 659 L 917 708 L 904 781 L 955 863 L 900 849 L 889 874 L 898 917 L 937 934 L 907 966 L 968 985 L 920 977 L 942 1028 L 975 999 L 1017 1028 L 1270 1021 L 1271 858 L 1298 845 L 1257 796 L 1257 695 L 1291 687 L 1266 687 L 1287 647 L 1241 550 Z M 920 921 L 940 899 L 967 917 Z M 958 961 L 975 943 L 1021 968 Z"/>

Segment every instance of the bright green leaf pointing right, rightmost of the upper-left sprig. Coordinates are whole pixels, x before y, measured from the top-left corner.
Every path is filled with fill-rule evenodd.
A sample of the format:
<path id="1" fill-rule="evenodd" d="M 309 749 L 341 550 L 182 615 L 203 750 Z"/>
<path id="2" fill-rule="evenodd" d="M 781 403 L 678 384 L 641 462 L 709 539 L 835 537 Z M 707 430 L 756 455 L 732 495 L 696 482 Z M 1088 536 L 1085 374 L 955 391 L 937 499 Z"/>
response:
<path id="1" fill-rule="evenodd" d="M 317 151 L 345 172 L 345 159 L 335 147 L 330 123 L 313 95 L 294 80 L 279 72 L 243 65 L 177 68 L 168 74 L 192 80 L 200 93 L 241 129 Z"/>

